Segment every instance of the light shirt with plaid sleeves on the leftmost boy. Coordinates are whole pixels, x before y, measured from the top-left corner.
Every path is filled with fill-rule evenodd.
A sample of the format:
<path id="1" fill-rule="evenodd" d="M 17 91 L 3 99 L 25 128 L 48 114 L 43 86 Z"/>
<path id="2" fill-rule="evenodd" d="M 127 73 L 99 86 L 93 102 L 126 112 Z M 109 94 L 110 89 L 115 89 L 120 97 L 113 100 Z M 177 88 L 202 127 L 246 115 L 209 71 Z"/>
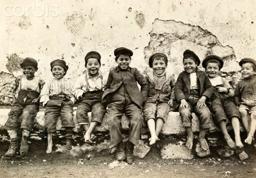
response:
<path id="1" fill-rule="evenodd" d="M 38 93 L 40 93 L 44 84 L 44 80 L 40 79 L 37 76 L 34 76 L 32 79 L 27 79 L 25 75 L 20 75 L 16 77 L 14 82 L 11 83 L 11 87 L 9 88 L 5 96 L 8 96 L 10 98 L 17 98 L 16 91 L 20 90 L 37 91 Z"/>

